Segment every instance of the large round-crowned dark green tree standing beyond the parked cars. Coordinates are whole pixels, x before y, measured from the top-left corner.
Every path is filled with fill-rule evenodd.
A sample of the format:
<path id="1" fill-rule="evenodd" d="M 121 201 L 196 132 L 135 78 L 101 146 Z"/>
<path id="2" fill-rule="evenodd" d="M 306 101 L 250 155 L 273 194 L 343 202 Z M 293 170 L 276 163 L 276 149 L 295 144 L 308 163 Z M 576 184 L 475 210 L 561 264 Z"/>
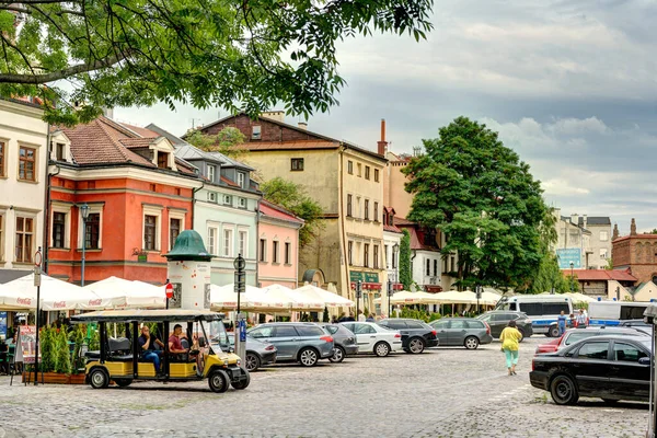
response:
<path id="1" fill-rule="evenodd" d="M 529 165 L 497 132 L 466 117 L 423 140 L 425 153 L 404 169 L 414 194 L 408 219 L 449 235 L 442 254 L 459 254 L 460 288 L 487 284 L 526 289 L 545 253 L 550 211 Z"/>

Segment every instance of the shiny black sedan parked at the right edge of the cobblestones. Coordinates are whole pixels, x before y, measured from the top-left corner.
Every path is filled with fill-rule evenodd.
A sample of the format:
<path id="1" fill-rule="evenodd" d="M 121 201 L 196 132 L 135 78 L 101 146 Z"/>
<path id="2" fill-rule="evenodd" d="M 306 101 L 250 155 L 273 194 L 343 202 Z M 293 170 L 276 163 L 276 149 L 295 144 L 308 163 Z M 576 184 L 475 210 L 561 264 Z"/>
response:
<path id="1" fill-rule="evenodd" d="M 556 404 L 575 404 L 579 396 L 648 401 L 650 393 L 648 336 L 595 336 L 557 353 L 534 356 L 529 380 L 550 391 Z"/>

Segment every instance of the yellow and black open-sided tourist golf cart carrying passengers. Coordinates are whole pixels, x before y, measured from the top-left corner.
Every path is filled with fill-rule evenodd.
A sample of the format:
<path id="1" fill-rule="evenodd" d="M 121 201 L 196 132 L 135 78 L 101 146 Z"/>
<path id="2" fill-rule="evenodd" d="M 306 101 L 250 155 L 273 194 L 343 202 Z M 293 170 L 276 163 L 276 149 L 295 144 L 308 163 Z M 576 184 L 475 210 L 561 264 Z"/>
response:
<path id="1" fill-rule="evenodd" d="M 85 381 L 92 388 L 107 388 L 111 381 L 127 387 L 135 380 L 186 382 L 208 379 L 214 392 L 226 392 L 230 385 L 243 390 L 251 378 L 241 366 L 240 357 L 220 347 L 229 345 L 222 318 L 221 313 L 201 310 L 104 310 L 79 314 L 71 321 L 99 324 L 100 351 L 85 354 Z M 124 324 L 125 337 L 110 337 L 108 323 Z M 158 353 L 161 357 L 159 374 L 139 344 L 143 324 L 153 328 L 150 332 L 163 346 Z M 186 353 L 171 354 L 168 341 L 178 324 L 182 326 L 181 344 Z"/>

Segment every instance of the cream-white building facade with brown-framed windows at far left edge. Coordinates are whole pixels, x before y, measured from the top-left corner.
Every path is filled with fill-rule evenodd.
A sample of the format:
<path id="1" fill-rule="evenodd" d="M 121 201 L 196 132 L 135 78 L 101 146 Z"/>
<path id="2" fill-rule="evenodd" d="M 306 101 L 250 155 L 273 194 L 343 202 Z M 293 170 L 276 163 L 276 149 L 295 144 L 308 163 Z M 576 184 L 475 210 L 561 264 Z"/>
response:
<path id="1" fill-rule="evenodd" d="M 48 124 L 28 101 L 0 100 L 0 270 L 32 269 L 44 247 Z"/>

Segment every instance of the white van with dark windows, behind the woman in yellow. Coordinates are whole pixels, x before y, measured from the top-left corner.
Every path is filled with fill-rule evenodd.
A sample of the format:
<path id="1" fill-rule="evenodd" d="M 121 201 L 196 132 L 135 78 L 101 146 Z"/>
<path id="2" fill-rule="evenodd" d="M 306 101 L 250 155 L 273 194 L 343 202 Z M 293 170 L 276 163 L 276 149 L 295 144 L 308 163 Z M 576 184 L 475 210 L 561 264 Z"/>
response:
<path id="1" fill-rule="evenodd" d="M 545 336 L 558 336 L 557 318 L 563 310 L 566 315 L 573 313 L 573 301 L 563 295 L 515 295 L 502 297 L 495 310 L 525 312 L 531 319 L 534 333 Z"/>

